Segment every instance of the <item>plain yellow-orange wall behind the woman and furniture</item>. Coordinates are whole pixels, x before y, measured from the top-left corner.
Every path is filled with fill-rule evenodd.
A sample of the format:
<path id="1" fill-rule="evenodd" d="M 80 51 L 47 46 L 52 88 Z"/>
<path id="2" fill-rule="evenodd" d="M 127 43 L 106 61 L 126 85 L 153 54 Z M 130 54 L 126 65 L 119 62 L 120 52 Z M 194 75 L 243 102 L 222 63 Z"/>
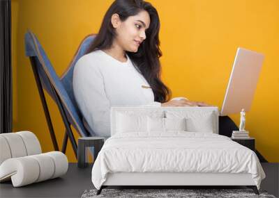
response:
<path id="1" fill-rule="evenodd" d="M 279 162 L 279 1 L 150 2 L 160 15 L 163 80 L 173 97 L 185 96 L 221 107 L 237 47 L 265 54 L 252 108 L 246 114 L 246 129 L 256 138 L 262 155 L 270 162 Z M 24 33 L 29 28 L 37 35 L 60 76 L 81 40 L 89 33 L 98 33 L 111 3 L 12 0 L 13 131 L 33 131 L 43 151 L 53 147 L 31 65 L 24 56 Z M 65 128 L 54 101 L 47 96 L 47 102 L 61 148 Z M 232 118 L 239 124 L 239 115 Z M 66 154 L 75 161 L 70 144 Z"/>

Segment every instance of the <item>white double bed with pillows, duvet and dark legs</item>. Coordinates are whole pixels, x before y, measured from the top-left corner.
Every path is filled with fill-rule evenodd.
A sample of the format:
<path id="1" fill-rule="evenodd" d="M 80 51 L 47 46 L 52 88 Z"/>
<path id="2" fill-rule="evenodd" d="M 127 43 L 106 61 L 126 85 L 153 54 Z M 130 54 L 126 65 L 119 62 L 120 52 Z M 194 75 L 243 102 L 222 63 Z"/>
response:
<path id="1" fill-rule="evenodd" d="M 254 151 L 218 135 L 216 107 L 112 107 L 111 133 L 92 182 L 110 185 L 246 185 L 265 174 Z"/>

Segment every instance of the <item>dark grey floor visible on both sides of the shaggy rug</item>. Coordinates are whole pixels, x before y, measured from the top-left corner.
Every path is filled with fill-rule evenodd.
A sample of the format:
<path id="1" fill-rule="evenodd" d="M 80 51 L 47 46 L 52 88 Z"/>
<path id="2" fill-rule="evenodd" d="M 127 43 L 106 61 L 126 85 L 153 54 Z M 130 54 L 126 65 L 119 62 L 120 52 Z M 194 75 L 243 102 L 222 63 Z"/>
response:
<path id="1" fill-rule="evenodd" d="M 279 195 L 279 163 L 262 163 L 266 179 L 262 181 L 261 189 L 269 194 Z M 20 188 L 13 188 L 11 182 L 0 184 L 0 197 L 81 197 L 86 189 L 92 189 L 91 166 L 84 169 L 71 163 L 67 174 L 40 183 L 33 183 Z"/>

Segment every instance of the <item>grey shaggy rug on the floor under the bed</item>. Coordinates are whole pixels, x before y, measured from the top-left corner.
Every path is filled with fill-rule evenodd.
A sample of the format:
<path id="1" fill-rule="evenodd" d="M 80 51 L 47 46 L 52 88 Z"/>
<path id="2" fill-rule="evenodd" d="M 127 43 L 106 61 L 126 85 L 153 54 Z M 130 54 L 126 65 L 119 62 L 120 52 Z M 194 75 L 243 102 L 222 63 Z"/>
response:
<path id="1" fill-rule="evenodd" d="M 103 189 L 100 195 L 96 195 L 97 190 L 85 190 L 82 198 L 102 198 L 102 197 L 149 197 L 149 198 L 207 198 L 207 197 L 264 197 L 276 198 L 268 195 L 266 191 L 259 190 L 260 195 L 255 195 L 251 189 Z"/>

